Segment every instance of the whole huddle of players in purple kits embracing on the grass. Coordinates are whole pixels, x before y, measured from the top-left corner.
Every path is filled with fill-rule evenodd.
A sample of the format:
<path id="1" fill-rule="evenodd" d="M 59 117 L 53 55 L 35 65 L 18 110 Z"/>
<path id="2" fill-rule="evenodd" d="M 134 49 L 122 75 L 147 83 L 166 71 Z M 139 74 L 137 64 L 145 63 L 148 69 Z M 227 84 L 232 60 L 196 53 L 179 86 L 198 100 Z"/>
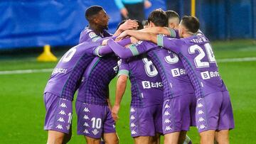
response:
<path id="1" fill-rule="evenodd" d="M 56 65 L 44 91 L 48 144 L 71 138 L 73 98 L 78 135 L 89 144 L 119 143 L 115 121 L 127 79 L 132 87 L 130 131 L 134 143 L 191 143 L 196 126 L 201 143 L 229 143 L 234 128 L 228 90 L 218 73 L 213 49 L 196 17 L 152 11 L 148 25 L 122 21 L 108 33 L 109 16 L 101 6 L 85 11 L 89 22 L 79 45 Z M 117 74 L 118 73 L 118 74 Z M 109 84 L 117 75 L 114 106 Z"/>

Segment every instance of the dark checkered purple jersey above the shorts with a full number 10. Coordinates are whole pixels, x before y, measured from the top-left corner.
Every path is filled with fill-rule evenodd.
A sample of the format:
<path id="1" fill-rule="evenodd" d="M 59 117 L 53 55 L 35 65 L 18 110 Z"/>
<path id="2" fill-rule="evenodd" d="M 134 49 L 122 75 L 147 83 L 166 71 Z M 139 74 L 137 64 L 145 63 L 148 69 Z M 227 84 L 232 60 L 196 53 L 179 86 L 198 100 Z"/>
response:
<path id="1" fill-rule="evenodd" d="M 95 57 L 82 75 L 78 88 L 78 101 L 87 104 L 107 105 L 110 81 L 117 75 L 117 57 Z"/>

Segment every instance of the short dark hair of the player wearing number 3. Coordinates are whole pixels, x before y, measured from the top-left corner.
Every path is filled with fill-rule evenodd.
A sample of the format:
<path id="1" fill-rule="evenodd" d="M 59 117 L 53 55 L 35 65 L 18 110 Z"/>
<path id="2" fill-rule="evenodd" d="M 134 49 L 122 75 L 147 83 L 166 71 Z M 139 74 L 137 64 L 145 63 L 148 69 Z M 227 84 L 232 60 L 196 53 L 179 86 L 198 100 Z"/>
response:
<path id="1" fill-rule="evenodd" d="M 149 14 L 148 22 L 154 23 L 155 26 L 168 26 L 168 18 L 162 9 L 155 9 Z"/>

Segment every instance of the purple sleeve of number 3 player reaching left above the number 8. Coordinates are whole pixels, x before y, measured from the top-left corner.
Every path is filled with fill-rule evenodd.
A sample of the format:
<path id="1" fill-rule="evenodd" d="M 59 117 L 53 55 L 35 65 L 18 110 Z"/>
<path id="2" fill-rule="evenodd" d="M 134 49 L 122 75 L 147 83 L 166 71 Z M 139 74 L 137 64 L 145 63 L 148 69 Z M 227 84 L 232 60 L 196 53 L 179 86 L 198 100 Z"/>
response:
<path id="1" fill-rule="evenodd" d="M 114 40 L 109 40 L 108 45 L 110 45 L 110 48 L 114 51 L 114 53 L 124 59 L 140 55 L 149 51 L 151 48 L 157 47 L 157 45 L 146 41 L 139 41 L 138 43 L 129 45 L 129 48 L 124 48 L 123 46 L 114 42 Z"/>

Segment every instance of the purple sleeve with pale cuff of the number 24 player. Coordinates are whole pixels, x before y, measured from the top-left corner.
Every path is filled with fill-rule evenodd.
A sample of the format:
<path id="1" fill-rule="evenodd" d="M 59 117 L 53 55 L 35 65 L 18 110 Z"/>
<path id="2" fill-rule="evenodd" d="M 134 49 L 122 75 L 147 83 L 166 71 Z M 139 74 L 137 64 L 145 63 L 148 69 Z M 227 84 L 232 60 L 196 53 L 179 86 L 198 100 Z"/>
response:
<path id="1" fill-rule="evenodd" d="M 157 35 L 157 45 L 171 50 L 173 52 L 179 53 L 181 51 L 181 46 L 183 41 L 177 38 L 167 38 L 164 35 Z"/>

